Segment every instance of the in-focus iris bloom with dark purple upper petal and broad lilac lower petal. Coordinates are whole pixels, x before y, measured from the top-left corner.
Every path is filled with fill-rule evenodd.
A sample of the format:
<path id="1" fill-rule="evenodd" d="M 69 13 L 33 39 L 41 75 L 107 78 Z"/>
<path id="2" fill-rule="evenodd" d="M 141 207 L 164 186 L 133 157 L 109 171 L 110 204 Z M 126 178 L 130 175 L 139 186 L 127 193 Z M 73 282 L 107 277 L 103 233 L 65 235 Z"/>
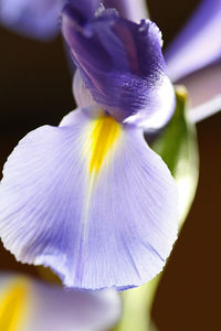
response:
<path id="1" fill-rule="evenodd" d="M 0 235 L 18 260 L 51 267 L 66 287 L 123 290 L 155 277 L 177 237 L 175 181 L 144 139 L 169 120 L 175 95 L 156 24 L 97 6 L 63 9 L 78 108 L 9 157 Z"/>

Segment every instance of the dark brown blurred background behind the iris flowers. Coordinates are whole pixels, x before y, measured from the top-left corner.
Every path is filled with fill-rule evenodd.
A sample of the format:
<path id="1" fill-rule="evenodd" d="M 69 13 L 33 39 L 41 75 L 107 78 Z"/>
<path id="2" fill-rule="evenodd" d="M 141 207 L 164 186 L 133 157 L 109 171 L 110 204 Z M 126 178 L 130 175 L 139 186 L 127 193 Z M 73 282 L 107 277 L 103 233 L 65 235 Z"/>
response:
<path id="1" fill-rule="evenodd" d="M 149 1 L 151 18 L 162 30 L 166 44 L 198 2 Z M 2 166 L 19 139 L 43 124 L 57 125 L 74 108 L 74 100 L 61 38 L 40 43 L 1 29 L 0 43 Z M 159 331 L 221 330 L 220 125 L 221 114 L 198 125 L 199 188 L 157 291 L 152 316 Z M 17 264 L 3 248 L 0 267 L 35 273 Z"/>

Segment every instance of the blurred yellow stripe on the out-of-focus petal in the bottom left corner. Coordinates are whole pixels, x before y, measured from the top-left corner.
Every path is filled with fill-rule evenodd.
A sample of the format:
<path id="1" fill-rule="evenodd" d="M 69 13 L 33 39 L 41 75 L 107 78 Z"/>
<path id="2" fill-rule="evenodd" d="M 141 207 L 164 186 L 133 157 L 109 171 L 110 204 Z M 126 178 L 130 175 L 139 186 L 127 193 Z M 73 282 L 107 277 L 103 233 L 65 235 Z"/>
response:
<path id="1" fill-rule="evenodd" d="M 4 292 L 0 296 L 0 330 L 24 330 L 22 323 L 27 308 L 27 284 L 19 279 L 6 287 Z"/>

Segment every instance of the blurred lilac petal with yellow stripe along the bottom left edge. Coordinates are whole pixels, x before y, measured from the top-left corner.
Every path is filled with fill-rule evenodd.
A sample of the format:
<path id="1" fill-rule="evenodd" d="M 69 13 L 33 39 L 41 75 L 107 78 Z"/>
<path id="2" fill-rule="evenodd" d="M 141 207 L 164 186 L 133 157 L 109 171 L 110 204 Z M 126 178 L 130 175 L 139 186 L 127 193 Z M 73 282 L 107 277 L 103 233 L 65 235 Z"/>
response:
<path id="1" fill-rule="evenodd" d="M 0 274 L 2 331 L 101 331 L 119 314 L 120 300 L 114 290 L 67 291 L 28 276 Z"/>

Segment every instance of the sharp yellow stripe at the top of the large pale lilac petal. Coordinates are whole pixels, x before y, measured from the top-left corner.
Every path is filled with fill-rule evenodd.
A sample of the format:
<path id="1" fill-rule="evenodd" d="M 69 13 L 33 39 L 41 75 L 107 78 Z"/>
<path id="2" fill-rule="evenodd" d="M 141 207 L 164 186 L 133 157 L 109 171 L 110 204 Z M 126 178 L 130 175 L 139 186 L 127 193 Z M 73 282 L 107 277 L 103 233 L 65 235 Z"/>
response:
<path id="1" fill-rule="evenodd" d="M 120 125 L 110 116 L 103 116 L 93 122 L 90 137 L 90 173 L 98 173 L 104 159 L 120 134 Z"/>

